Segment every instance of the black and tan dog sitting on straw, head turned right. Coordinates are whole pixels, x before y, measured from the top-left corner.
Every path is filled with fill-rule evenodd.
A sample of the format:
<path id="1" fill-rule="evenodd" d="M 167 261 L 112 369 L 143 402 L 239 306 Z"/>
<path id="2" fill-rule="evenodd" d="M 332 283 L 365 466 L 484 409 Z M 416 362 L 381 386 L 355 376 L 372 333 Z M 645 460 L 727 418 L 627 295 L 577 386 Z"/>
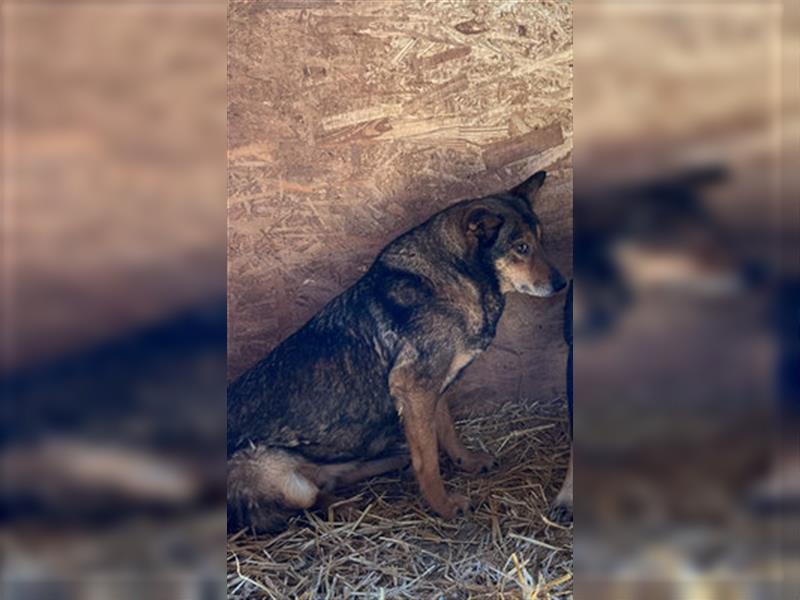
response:
<path id="1" fill-rule="evenodd" d="M 274 530 L 287 512 L 408 458 L 431 508 L 450 518 L 439 450 L 470 472 L 495 461 L 464 447 L 442 393 L 491 344 L 505 295 L 566 283 L 533 211 L 539 171 L 501 194 L 459 202 L 386 246 L 352 287 L 228 388 L 232 527 Z"/>

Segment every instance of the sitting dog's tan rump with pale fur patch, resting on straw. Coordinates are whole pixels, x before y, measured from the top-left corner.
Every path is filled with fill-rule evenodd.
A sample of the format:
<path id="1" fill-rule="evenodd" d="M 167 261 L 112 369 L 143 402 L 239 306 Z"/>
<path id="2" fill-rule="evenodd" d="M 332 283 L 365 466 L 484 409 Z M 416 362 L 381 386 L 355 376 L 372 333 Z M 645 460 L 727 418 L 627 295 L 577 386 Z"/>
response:
<path id="1" fill-rule="evenodd" d="M 283 450 L 258 446 L 236 452 L 228 459 L 228 528 L 276 531 L 311 508 L 320 490 L 308 476 L 309 466 Z"/>

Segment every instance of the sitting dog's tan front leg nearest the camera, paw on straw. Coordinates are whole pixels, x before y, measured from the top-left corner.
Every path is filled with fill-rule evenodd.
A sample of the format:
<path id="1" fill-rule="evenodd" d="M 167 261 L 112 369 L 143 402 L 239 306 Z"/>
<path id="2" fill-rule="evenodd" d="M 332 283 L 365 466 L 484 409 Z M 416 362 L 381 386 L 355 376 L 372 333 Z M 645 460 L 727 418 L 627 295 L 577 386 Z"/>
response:
<path id="1" fill-rule="evenodd" d="M 450 519 L 465 512 L 469 500 L 460 494 L 448 494 L 439 470 L 439 446 L 436 439 L 435 388 L 425 384 L 412 368 L 395 368 L 389 376 L 389 388 L 403 422 L 411 466 L 422 495 L 431 508 Z"/>

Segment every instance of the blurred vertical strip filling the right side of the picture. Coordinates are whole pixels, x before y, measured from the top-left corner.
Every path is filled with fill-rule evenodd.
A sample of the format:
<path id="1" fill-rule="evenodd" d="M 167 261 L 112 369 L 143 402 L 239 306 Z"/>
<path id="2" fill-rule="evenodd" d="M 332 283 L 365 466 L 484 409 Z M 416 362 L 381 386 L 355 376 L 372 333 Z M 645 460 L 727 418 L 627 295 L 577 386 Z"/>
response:
<path id="1" fill-rule="evenodd" d="M 798 597 L 798 39 L 575 4 L 579 598 Z"/>

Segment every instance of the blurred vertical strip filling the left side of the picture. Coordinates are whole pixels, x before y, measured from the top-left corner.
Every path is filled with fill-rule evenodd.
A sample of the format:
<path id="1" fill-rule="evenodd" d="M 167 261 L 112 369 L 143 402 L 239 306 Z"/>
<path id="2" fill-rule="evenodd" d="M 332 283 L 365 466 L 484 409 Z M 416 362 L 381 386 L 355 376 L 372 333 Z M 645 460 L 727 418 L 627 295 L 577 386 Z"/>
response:
<path id="1" fill-rule="evenodd" d="M 220 597 L 225 3 L 0 10 L 0 596 Z"/>

